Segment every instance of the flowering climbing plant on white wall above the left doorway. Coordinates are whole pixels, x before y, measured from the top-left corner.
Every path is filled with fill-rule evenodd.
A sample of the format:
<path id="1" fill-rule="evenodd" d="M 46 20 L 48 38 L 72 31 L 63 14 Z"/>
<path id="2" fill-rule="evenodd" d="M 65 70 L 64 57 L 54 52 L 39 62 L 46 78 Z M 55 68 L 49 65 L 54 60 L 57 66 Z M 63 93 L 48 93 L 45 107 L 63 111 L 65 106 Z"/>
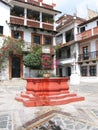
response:
<path id="1" fill-rule="evenodd" d="M 5 67 L 5 59 L 9 57 L 10 52 L 16 51 L 17 54 L 22 54 L 24 41 L 22 39 L 14 39 L 5 37 L 2 47 L 0 48 L 0 70 Z"/>

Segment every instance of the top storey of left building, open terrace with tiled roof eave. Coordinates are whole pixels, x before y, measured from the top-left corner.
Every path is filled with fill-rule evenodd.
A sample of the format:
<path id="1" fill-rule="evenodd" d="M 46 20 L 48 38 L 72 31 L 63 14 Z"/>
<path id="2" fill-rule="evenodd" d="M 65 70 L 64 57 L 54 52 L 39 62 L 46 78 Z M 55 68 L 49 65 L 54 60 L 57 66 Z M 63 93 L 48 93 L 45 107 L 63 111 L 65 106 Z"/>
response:
<path id="1" fill-rule="evenodd" d="M 42 2 L 42 0 L 38 0 L 38 2 L 34 0 L 11 1 L 13 8 L 10 11 L 10 24 L 56 30 L 54 27 L 55 15 L 61 12 L 50 8 L 45 3 L 40 5 L 40 1 Z"/>

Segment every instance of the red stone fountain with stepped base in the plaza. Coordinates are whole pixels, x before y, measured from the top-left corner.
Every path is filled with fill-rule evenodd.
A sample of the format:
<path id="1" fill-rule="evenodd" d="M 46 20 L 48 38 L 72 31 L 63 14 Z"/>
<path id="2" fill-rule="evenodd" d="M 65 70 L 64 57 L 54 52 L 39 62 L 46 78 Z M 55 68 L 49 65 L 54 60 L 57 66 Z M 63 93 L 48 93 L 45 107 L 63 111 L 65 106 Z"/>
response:
<path id="1" fill-rule="evenodd" d="M 84 97 L 69 92 L 68 78 L 27 78 L 26 92 L 16 100 L 27 107 L 52 106 L 83 101 Z"/>

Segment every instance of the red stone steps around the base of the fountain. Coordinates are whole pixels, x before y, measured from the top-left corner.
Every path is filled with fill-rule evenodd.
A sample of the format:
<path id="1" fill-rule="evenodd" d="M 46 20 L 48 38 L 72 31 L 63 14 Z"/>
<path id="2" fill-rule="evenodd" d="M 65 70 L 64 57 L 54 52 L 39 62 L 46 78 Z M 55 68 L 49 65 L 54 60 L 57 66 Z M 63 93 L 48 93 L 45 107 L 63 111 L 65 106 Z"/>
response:
<path id="1" fill-rule="evenodd" d="M 15 98 L 17 101 L 23 102 L 26 107 L 62 105 L 71 102 L 83 101 L 84 97 L 77 96 L 74 93 L 60 94 L 54 96 L 34 97 L 30 94 L 20 94 Z"/>

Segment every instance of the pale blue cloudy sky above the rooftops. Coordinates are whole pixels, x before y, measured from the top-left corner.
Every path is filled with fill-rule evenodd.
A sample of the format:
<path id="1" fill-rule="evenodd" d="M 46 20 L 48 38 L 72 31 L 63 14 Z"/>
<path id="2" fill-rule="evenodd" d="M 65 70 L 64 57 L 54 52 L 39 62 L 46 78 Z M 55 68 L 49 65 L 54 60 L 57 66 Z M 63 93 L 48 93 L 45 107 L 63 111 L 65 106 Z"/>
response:
<path id="1" fill-rule="evenodd" d="M 56 10 L 62 14 L 77 15 L 86 18 L 87 8 L 98 12 L 98 0 L 43 0 L 46 3 L 56 3 Z"/>

